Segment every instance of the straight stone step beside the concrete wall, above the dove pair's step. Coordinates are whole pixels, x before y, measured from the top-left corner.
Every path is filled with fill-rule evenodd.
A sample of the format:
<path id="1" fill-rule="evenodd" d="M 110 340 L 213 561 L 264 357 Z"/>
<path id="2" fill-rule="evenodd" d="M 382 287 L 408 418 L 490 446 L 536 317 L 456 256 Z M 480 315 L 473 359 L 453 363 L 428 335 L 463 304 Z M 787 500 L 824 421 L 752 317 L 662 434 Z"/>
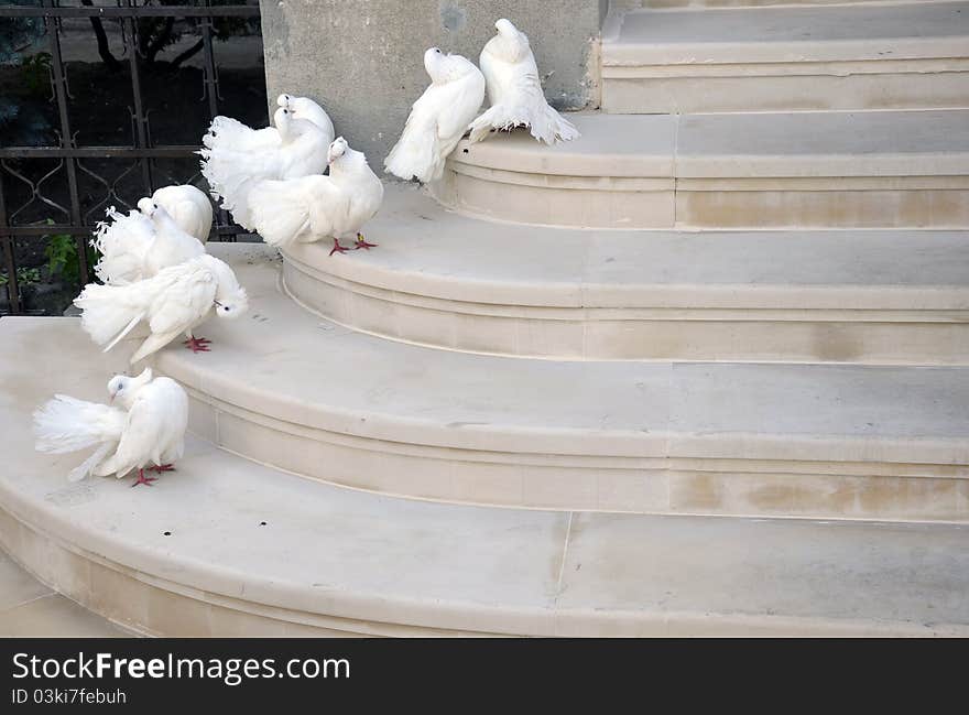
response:
<path id="1" fill-rule="evenodd" d="M 969 2 L 613 11 L 610 113 L 969 107 Z"/>

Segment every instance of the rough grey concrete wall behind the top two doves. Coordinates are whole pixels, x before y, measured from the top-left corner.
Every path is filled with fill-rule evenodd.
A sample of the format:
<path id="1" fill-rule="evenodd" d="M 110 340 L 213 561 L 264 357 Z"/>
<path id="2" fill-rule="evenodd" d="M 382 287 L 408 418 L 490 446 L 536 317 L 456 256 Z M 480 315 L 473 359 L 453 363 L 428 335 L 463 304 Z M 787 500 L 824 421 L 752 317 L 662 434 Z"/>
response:
<path id="1" fill-rule="evenodd" d="M 260 0 L 270 97 L 319 101 L 338 134 L 382 173 L 411 104 L 428 84 L 424 51 L 478 62 L 508 18 L 524 31 L 557 108 L 598 101 L 592 77 L 606 0 Z M 591 72 L 590 72 L 591 68 Z"/>

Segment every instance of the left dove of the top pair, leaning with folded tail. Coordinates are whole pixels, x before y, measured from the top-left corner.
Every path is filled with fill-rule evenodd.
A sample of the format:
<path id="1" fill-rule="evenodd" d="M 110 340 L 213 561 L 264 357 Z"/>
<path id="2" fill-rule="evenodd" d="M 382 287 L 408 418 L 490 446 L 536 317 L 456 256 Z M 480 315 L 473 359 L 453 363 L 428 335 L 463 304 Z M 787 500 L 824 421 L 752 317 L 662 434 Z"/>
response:
<path id="1" fill-rule="evenodd" d="M 404 131 L 383 165 L 406 181 L 437 181 L 444 160 L 454 151 L 484 101 L 484 75 L 460 55 L 437 47 L 424 53 L 431 86 L 414 102 Z"/>

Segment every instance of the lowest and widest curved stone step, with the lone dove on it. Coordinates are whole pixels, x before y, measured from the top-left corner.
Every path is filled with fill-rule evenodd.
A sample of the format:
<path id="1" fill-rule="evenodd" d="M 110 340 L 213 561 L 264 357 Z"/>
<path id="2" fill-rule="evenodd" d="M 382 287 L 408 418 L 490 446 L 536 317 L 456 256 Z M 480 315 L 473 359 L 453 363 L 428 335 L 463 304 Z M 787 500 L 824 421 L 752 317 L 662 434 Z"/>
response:
<path id="1" fill-rule="evenodd" d="M 428 503 L 316 484 L 199 438 L 152 487 L 68 484 L 78 455 L 34 453 L 30 413 L 57 391 L 102 399 L 118 358 L 69 318 L 3 318 L 0 337 L 0 548 L 140 633 L 969 635 L 965 526 Z M 228 357 L 233 338 L 218 337 L 196 357 Z M 284 392 L 285 356 L 237 365 L 277 371 Z M 319 367 L 304 392 L 326 378 Z M 333 378 L 348 382 L 355 365 L 342 367 Z"/>

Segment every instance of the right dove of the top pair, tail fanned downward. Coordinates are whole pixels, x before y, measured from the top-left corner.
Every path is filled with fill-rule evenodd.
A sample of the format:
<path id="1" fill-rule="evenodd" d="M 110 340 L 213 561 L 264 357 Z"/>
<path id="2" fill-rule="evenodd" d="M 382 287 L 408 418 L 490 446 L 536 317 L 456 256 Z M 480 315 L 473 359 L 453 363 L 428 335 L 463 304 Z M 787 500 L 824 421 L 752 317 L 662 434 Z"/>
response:
<path id="1" fill-rule="evenodd" d="M 527 35 L 504 18 L 494 26 L 498 34 L 478 58 L 491 107 L 471 122 L 471 143 L 488 137 L 492 129 L 519 124 L 529 127 L 532 137 L 546 144 L 576 139 L 578 129 L 545 100 Z"/>

